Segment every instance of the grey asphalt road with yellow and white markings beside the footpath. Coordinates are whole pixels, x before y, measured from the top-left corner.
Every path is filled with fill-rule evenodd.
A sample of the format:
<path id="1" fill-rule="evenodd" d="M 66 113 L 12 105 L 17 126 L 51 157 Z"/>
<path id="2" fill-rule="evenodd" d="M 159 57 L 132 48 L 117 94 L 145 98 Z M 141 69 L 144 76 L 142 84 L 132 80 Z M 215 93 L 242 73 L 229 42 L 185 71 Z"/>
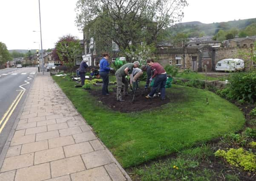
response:
<path id="1" fill-rule="evenodd" d="M 37 67 L 0 70 L 0 153 L 36 73 Z"/>

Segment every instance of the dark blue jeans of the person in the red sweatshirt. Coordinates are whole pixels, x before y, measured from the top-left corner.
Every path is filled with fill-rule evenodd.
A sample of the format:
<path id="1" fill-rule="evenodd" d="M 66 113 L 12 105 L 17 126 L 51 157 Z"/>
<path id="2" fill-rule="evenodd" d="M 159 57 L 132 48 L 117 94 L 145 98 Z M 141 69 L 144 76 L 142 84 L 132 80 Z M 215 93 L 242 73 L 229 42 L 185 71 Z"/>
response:
<path id="1" fill-rule="evenodd" d="M 155 77 L 154 85 L 150 92 L 150 96 L 153 97 L 158 86 L 160 85 L 161 99 L 165 98 L 165 84 L 167 80 L 167 74 L 159 74 Z"/>

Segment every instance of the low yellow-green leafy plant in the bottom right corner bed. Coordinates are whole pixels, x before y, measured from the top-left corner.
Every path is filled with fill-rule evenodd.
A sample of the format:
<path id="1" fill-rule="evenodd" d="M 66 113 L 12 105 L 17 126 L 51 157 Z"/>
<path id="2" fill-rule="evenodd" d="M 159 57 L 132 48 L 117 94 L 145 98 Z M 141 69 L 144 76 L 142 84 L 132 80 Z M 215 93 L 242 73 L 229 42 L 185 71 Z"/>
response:
<path id="1" fill-rule="evenodd" d="M 230 165 L 244 167 L 244 170 L 254 171 L 256 169 L 256 156 L 243 148 L 231 148 L 228 151 L 217 150 L 215 156 L 223 157 Z"/>

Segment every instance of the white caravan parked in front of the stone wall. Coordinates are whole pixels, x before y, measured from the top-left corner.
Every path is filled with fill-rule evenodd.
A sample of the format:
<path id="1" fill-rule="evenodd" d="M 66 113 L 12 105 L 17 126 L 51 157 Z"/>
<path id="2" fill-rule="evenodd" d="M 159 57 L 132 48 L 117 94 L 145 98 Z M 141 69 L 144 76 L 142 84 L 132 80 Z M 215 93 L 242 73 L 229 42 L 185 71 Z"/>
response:
<path id="1" fill-rule="evenodd" d="M 244 61 L 238 58 L 227 58 L 218 61 L 216 65 L 216 71 L 235 71 L 235 70 L 243 70 L 244 69 Z"/>

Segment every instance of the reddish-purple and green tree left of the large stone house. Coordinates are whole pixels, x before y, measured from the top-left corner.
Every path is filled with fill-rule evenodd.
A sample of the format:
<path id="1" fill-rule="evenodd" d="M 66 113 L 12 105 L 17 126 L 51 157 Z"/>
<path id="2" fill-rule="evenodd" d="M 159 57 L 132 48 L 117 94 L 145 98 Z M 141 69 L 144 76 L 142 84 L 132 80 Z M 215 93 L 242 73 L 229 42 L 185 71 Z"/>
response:
<path id="1" fill-rule="evenodd" d="M 62 36 L 55 44 L 54 53 L 56 53 L 60 61 L 63 61 L 64 65 L 72 71 L 72 68 L 75 66 L 75 57 L 82 53 L 80 40 L 72 35 Z"/>

